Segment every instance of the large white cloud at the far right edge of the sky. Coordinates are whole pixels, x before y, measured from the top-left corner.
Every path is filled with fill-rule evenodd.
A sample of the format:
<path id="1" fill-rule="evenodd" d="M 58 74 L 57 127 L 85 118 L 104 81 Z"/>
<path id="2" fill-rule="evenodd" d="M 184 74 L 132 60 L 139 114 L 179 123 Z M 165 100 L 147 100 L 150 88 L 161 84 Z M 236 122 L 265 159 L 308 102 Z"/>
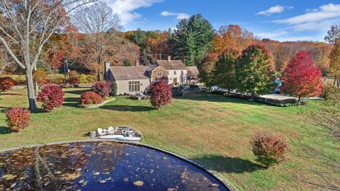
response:
<path id="1" fill-rule="evenodd" d="M 311 10 L 311 9 L 310 9 Z M 302 30 L 327 30 L 330 25 L 340 22 L 340 4 L 327 4 L 319 6 L 317 11 L 304 13 L 283 20 L 276 20 L 273 23 L 285 23 L 291 28 Z"/>

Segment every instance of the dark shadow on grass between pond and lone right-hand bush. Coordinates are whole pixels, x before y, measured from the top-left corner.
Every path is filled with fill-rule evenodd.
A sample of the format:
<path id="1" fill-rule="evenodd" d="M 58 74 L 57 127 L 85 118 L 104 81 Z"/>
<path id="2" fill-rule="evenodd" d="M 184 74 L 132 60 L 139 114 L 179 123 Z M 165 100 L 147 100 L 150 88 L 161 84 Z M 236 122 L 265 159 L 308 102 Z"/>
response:
<path id="1" fill-rule="evenodd" d="M 193 160 L 209 166 L 218 173 L 251 173 L 256 170 L 266 169 L 257 163 L 243 158 L 232 158 L 215 154 L 198 156 L 193 158 Z"/>

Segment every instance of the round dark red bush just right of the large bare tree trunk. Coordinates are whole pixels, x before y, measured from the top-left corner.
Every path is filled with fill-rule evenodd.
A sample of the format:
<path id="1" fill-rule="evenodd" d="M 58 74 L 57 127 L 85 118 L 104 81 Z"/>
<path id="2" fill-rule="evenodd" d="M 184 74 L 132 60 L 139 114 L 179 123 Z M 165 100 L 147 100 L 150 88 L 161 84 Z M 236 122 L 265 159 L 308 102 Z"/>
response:
<path id="1" fill-rule="evenodd" d="M 64 92 L 57 85 L 45 86 L 40 91 L 37 100 L 42 102 L 42 108 L 51 112 L 53 108 L 59 108 L 64 102 Z"/>

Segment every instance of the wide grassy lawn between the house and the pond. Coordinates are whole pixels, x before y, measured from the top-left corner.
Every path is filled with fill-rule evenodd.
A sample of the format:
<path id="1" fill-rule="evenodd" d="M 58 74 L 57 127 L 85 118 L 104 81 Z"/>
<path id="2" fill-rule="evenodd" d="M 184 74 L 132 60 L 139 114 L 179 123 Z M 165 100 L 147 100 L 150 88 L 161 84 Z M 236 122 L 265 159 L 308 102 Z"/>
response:
<path id="1" fill-rule="evenodd" d="M 339 142 L 324 136 L 324 129 L 305 123 L 301 107 L 278 108 L 224 96 L 188 93 L 157 111 L 148 101 L 118 97 L 102 108 L 77 108 L 86 89 L 65 89 L 62 108 L 39 110 L 21 134 L 11 133 L 0 113 L 0 148 L 27 144 L 89 139 L 98 127 L 129 125 L 140 130 L 142 142 L 187 156 L 216 170 L 237 190 L 311 190 L 310 183 L 340 184 L 339 171 L 307 154 L 308 147 L 323 156 L 339 159 Z M 2 96 L 0 108 L 27 107 L 25 90 Z M 310 103 L 313 104 L 313 103 Z M 303 107 L 303 106 L 302 106 Z M 255 163 L 249 139 L 259 131 L 276 132 L 288 139 L 288 161 L 273 169 Z"/>

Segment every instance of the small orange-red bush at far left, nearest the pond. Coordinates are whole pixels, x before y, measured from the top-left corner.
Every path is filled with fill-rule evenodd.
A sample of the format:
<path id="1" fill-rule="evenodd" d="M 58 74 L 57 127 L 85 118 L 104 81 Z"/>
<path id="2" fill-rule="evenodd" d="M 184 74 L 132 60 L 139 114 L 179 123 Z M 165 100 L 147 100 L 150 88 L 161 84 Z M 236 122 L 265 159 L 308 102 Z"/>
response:
<path id="1" fill-rule="evenodd" d="M 30 125 L 30 111 L 26 108 L 11 108 L 6 110 L 7 125 L 13 132 L 20 132 Z"/>

